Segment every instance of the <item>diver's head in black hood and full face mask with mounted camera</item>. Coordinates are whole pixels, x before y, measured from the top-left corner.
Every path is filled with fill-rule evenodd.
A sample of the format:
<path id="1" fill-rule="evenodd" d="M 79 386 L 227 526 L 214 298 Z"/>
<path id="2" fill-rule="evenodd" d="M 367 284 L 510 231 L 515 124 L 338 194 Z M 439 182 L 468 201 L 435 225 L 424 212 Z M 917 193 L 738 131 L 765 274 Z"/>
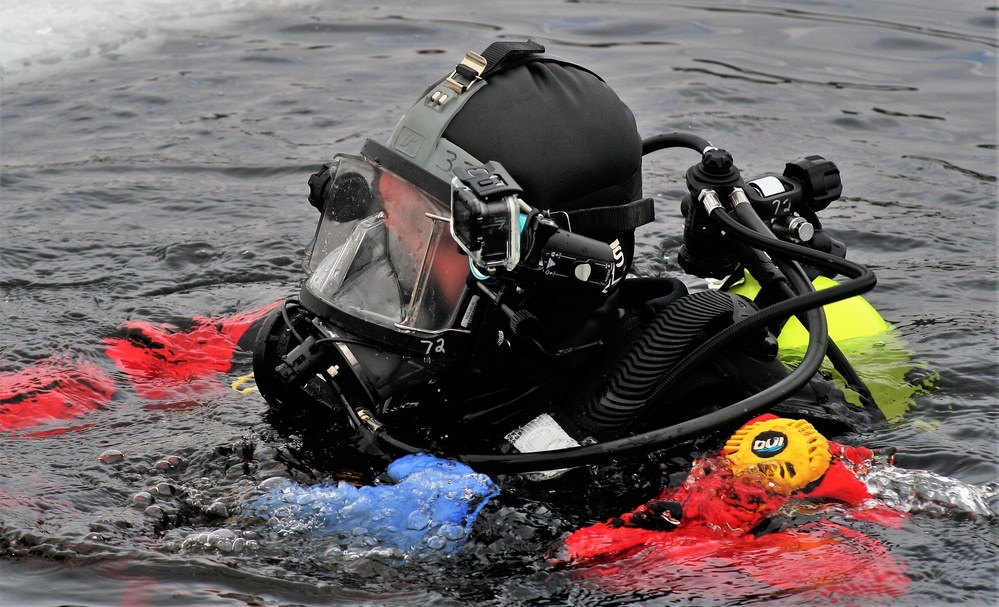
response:
<path id="1" fill-rule="evenodd" d="M 305 394 L 377 412 L 484 342 L 532 338 L 544 318 L 514 294 L 601 301 L 623 278 L 634 229 L 652 219 L 634 118 L 597 76 L 543 51 L 468 53 L 387 145 L 368 140 L 313 175 L 309 276 L 254 352 L 272 404 Z M 486 307 L 499 326 L 483 327 Z"/>

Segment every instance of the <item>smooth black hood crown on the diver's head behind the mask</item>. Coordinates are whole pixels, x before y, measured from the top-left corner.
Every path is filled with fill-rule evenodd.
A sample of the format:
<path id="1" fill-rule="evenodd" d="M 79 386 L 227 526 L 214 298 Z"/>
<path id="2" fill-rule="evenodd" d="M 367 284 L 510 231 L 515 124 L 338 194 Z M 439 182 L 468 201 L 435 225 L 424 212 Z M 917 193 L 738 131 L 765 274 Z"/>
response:
<path id="1" fill-rule="evenodd" d="M 490 75 L 444 136 L 498 160 L 538 209 L 575 210 L 641 198 L 635 117 L 599 77 L 541 59 Z"/>

